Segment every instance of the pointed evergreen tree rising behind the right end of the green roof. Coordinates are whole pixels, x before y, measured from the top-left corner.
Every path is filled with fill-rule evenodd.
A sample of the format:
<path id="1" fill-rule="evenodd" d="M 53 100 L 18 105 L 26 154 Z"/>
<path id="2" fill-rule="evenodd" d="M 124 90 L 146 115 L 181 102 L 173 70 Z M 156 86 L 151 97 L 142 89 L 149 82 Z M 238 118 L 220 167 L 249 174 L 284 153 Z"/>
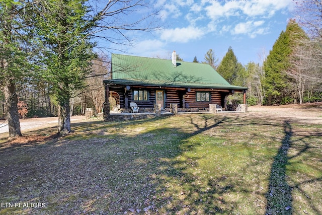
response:
<path id="1" fill-rule="evenodd" d="M 226 55 L 222 58 L 217 67 L 217 72 L 231 85 L 241 84 L 237 80 L 238 76 L 243 73 L 244 66 L 241 65 L 233 53 L 231 46 L 228 48 Z M 238 83 L 237 83 L 238 82 Z"/>

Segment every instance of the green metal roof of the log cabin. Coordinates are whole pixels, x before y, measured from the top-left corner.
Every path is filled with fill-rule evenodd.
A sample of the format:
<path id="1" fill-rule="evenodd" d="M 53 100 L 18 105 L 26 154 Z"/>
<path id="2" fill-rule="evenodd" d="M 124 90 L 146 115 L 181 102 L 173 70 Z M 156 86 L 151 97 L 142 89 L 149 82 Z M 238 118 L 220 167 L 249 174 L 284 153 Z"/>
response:
<path id="1" fill-rule="evenodd" d="M 112 80 L 105 83 L 246 90 L 230 85 L 209 64 L 112 54 Z"/>

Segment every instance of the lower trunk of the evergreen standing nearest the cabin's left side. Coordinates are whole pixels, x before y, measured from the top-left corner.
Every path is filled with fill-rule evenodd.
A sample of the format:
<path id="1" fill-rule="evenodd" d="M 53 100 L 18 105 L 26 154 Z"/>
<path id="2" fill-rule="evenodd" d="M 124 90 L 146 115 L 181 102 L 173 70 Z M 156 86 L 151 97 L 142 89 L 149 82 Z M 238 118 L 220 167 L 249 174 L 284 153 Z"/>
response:
<path id="1" fill-rule="evenodd" d="M 58 107 L 58 133 L 65 135 L 70 133 L 70 112 L 69 112 L 69 98 Z"/>

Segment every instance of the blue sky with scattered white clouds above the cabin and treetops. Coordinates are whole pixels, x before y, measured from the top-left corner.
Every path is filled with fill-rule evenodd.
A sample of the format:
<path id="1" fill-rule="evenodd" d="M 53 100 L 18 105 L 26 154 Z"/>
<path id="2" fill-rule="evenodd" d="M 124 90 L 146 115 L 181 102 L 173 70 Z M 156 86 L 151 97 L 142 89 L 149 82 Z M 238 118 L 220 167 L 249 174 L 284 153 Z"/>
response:
<path id="1" fill-rule="evenodd" d="M 126 54 L 169 58 L 172 51 L 184 61 L 199 62 L 209 49 L 221 61 L 229 46 L 242 64 L 260 62 L 268 54 L 293 18 L 292 0 L 159 0 L 162 30 L 137 32 L 131 36 L 133 47 L 116 47 Z M 113 51 L 114 53 L 122 53 Z M 123 52 L 124 53 L 124 52 Z"/>

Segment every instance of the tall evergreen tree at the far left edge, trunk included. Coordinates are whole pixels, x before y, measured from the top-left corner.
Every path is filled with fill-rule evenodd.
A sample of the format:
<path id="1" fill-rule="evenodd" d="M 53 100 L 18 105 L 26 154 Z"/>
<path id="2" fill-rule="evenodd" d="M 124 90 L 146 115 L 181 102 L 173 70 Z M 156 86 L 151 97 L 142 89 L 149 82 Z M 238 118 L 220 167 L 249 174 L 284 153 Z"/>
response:
<path id="1" fill-rule="evenodd" d="M 29 46 L 32 42 L 28 1 L 0 1 L 0 89 L 5 96 L 9 136 L 21 136 L 18 114 L 17 82 L 30 68 Z"/>

